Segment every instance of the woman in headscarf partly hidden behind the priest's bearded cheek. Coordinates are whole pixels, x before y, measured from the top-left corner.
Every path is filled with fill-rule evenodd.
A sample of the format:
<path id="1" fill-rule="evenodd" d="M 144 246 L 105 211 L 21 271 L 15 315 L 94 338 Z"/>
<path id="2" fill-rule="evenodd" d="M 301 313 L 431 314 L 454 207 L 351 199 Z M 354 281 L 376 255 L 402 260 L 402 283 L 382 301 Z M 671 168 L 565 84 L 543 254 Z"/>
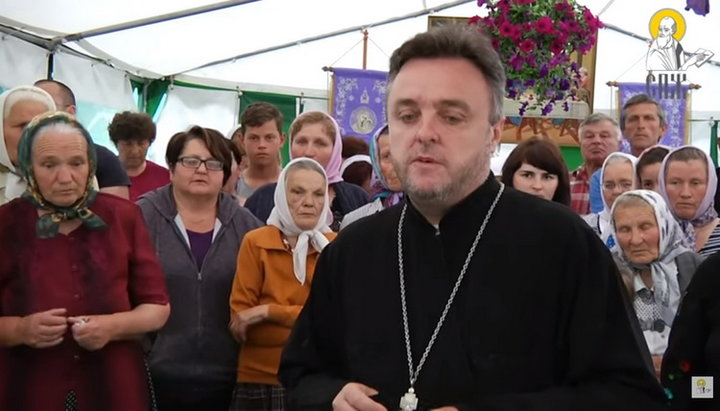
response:
<path id="1" fill-rule="evenodd" d="M 340 229 L 393 206 L 403 198 L 402 182 L 395 173 L 390 157 L 390 131 L 387 124 L 380 127 L 370 140 L 370 163 L 373 168 L 373 201 L 345 215 Z"/>

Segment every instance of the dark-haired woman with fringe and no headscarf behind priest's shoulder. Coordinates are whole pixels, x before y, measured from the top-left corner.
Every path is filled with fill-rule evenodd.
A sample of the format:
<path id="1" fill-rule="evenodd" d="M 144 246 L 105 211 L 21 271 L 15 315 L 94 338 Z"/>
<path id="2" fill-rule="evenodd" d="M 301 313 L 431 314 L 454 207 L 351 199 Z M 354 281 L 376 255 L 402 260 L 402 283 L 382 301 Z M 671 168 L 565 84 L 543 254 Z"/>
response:
<path id="1" fill-rule="evenodd" d="M 518 144 L 502 168 L 502 182 L 516 190 L 570 207 L 570 180 L 560 150 L 533 137 Z"/>

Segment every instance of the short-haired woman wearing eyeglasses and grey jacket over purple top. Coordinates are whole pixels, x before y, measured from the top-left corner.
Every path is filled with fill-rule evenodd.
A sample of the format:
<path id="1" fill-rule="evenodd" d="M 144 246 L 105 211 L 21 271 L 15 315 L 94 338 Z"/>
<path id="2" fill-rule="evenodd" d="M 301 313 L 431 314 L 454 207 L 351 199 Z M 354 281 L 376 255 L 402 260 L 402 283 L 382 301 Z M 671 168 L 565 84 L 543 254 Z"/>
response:
<path id="1" fill-rule="evenodd" d="M 198 126 L 177 133 L 165 159 L 171 184 L 138 201 L 177 305 L 150 342 L 158 408 L 226 411 L 239 349 L 230 289 L 240 243 L 261 223 L 222 192 L 232 164 L 222 136 Z"/>

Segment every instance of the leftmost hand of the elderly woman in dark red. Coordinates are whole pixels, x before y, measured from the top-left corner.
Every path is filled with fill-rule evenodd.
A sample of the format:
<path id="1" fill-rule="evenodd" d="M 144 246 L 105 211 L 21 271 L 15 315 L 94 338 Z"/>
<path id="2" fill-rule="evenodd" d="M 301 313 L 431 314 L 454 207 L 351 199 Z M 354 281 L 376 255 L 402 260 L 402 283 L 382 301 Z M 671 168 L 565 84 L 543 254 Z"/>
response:
<path id="1" fill-rule="evenodd" d="M 33 348 L 48 348 L 60 344 L 67 330 L 66 313 L 65 308 L 53 308 L 23 317 L 18 323 L 20 340 Z"/>

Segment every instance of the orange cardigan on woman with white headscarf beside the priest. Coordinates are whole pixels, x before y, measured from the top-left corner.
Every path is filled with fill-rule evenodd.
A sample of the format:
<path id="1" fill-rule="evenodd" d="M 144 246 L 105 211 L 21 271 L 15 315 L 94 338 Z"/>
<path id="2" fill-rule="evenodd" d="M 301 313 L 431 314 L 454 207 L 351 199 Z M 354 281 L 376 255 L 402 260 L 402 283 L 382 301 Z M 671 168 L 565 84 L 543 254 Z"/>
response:
<path id="1" fill-rule="evenodd" d="M 332 241 L 336 233 L 325 236 Z M 269 309 L 267 319 L 248 327 L 238 358 L 238 382 L 280 384 L 280 354 L 310 293 L 318 255 L 308 247 L 303 285 L 295 278 L 292 253 L 285 248 L 280 229 L 269 225 L 245 234 L 230 292 L 230 315 L 262 304 Z"/>

